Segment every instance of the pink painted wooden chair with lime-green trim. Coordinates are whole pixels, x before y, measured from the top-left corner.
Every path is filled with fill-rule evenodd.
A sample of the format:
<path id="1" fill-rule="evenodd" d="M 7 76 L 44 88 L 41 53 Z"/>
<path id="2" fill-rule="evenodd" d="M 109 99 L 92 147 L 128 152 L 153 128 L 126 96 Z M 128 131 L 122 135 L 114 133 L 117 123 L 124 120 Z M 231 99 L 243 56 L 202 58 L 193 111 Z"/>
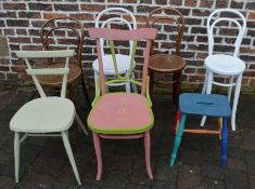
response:
<path id="1" fill-rule="evenodd" d="M 102 154 L 100 138 L 110 139 L 135 139 L 144 138 L 145 147 L 145 164 L 146 172 L 150 179 L 153 179 L 151 171 L 150 158 L 150 130 L 154 123 L 153 112 L 151 110 L 151 100 L 149 96 L 149 77 L 148 63 L 151 49 L 151 40 L 155 39 L 156 29 L 142 28 L 135 30 L 119 30 L 106 28 L 90 28 L 89 36 L 97 40 L 97 51 L 99 59 L 99 82 L 98 93 L 92 103 L 92 110 L 88 117 L 88 126 L 93 133 L 93 143 L 98 161 L 97 180 L 101 179 L 102 175 Z M 104 69 L 102 63 L 102 52 L 100 39 L 110 41 L 112 57 L 114 62 L 116 78 L 112 80 L 104 80 Z M 132 67 L 135 53 L 137 49 L 137 41 L 146 40 L 146 48 L 144 52 L 144 63 L 142 70 L 142 81 L 138 82 L 132 79 Z M 133 41 L 132 54 L 130 59 L 129 73 L 122 76 L 118 72 L 114 41 Z M 118 63 L 122 64 L 122 63 Z M 141 86 L 141 94 L 137 93 L 105 93 L 105 86 L 112 83 L 130 82 Z"/>

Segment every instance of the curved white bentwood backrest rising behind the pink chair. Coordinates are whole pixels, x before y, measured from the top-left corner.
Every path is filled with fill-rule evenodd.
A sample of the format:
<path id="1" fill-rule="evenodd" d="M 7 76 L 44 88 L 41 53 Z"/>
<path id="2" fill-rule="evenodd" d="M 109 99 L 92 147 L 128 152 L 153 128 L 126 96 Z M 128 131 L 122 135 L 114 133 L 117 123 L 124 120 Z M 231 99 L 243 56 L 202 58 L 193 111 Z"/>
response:
<path id="1" fill-rule="evenodd" d="M 125 13 L 125 14 L 127 14 L 127 15 L 130 17 L 132 25 L 131 25 L 127 19 L 125 19 L 125 18 L 118 16 L 118 17 L 111 17 L 111 18 L 107 18 L 107 19 L 103 21 L 103 22 L 102 22 L 102 25 L 100 26 L 100 22 L 101 22 L 102 17 L 103 17 L 106 13 L 111 13 L 111 12 L 113 12 L 113 13 L 116 13 L 116 12 L 117 12 L 117 13 Z M 109 8 L 109 9 L 103 10 L 103 11 L 100 12 L 99 15 L 97 16 L 94 26 L 95 26 L 97 28 L 100 28 L 100 27 L 101 27 L 101 28 L 104 28 L 104 27 L 107 27 L 107 26 L 111 27 L 111 24 L 114 23 L 114 22 L 115 22 L 115 23 L 118 22 L 118 23 L 122 23 L 122 24 L 124 24 L 124 25 L 127 25 L 127 27 L 128 27 L 129 30 L 137 29 L 137 19 L 136 19 L 136 17 L 135 17 L 135 15 L 133 15 L 130 11 L 128 11 L 128 10 L 126 10 L 126 9 L 124 9 L 124 8 Z M 101 39 L 101 52 L 102 52 L 102 55 L 104 55 L 103 44 L 104 44 L 103 39 Z M 129 48 L 130 48 L 129 56 L 131 56 L 131 48 L 132 48 L 132 44 L 133 44 L 133 42 L 132 42 L 132 41 L 129 41 Z"/>

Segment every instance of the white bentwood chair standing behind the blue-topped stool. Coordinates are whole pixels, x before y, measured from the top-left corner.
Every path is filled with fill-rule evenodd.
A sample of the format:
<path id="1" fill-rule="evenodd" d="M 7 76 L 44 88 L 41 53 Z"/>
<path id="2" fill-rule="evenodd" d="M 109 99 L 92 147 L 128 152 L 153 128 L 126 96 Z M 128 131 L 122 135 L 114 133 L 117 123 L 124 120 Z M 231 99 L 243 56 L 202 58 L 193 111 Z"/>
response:
<path id="1" fill-rule="evenodd" d="M 235 18 L 231 17 L 218 17 L 216 19 L 213 19 L 213 17 L 217 13 L 232 13 L 239 16 L 242 21 L 238 22 Z M 213 19 L 213 23 L 211 24 Z M 215 25 L 217 25 L 220 22 L 230 22 L 231 24 L 235 24 L 239 29 L 239 35 L 235 39 L 234 42 L 234 52 L 233 55 L 228 55 L 228 54 L 213 54 L 214 52 L 214 28 Z M 208 56 L 205 58 L 205 81 L 203 85 L 203 91 L 202 93 L 211 94 L 212 92 L 212 86 L 213 84 L 219 85 L 219 86 L 227 86 L 228 87 L 228 98 L 231 100 L 231 93 L 232 93 L 232 87 L 235 86 L 234 90 L 234 97 L 233 97 L 233 105 L 232 105 L 232 114 L 231 114 L 231 126 L 232 131 L 235 131 L 235 112 L 237 112 L 237 107 L 238 107 L 238 100 L 239 100 L 239 95 L 240 95 L 240 90 L 242 85 L 242 75 L 245 70 L 245 63 L 239 58 L 239 51 L 240 51 L 240 45 L 242 43 L 242 39 L 244 36 L 246 29 L 246 19 L 243 16 L 242 13 L 232 10 L 232 9 L 219 9 L 214 11 L 207 21 L 207 35 L 208 35 Z M 221 75 L 226 76 L 229 78 L 229 83 L 220 83 L 214 81 L 214 75 Z M 235 82 L 234 81 L 235 78 Z M 204 125 L 206 120 L 206 117 L 203 117 L 201 126 Z"/>

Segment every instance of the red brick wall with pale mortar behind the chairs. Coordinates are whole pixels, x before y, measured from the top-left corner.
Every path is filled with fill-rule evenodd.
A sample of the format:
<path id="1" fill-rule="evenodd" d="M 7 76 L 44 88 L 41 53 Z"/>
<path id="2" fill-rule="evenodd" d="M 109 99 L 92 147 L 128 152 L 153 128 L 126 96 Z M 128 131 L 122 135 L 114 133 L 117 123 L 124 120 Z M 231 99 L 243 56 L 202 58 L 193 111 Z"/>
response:
<path id="1" fill-rule="evenodd" d="M 107 4 L 107 5 L 106 5 Z M 255 2 L 246 0 L 72 0 L 60 1 L 5 1 L 0 4 L 0 35 L 9 42 L 10 59 L 0 59 L 0 82 L 3 84 L 21 84 L 27 77 L 17 65 L 21 64 L 13 55 L 18 50 L 40 50 L 39 31 L 43 22 L 53 16 L 68 15 L 81 19 L 86 27 L 94 25 L 98 13 L 106 6 L 123 6 L 135 13 L 139 26 L 144 26 L 149 12 L 158 6 L 173 6 L 181 11 L 186 18 L 186 32 L 182 38 L 181 55 L 187 59 L 183 81 L 197 85 L 204 79 L 203 59 L 207 56 L 206 19 L 211 12 L 219 8 L 232 8 L 241 11 L 247 18 L 240 57 L 248 63 L 255 63 Z M 157 50 L 171 52 L 174 49 L 173 32 L 166 25 L 161 25 L 161 37 Z M 169 28 L 169 27 L 168 27 Z M 227 44 L 233 40 L 235 29 L 224 26 L 217 37 L 217 52 L 231 50 Z M 64 44 L 58 44 L 64 45 Z M 84 67 L 86 78 L 93 85 L 91 62 L 97 57 L 94 42 L 86 38 L 84 51 Z M 137 60 L 140 63 L 139 56 Z M 138 66 L 138 70 L 141 67 Z M 139 77 L 139 71 L 138 77 Z M 225 79 L 220 79 L 225 80 Z M 252 89 L 255 84 L 255 66 L 245 71 L 243 86 Z"/>

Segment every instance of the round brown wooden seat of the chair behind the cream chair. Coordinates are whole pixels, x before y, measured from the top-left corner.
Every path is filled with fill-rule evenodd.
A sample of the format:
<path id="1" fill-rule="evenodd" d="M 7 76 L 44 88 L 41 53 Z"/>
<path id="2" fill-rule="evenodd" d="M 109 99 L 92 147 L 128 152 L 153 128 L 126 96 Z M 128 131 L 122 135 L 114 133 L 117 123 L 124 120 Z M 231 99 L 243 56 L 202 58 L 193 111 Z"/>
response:
<path id="1" fill-rule="evenodd" d="M 64 63 L 52 64 L 48 68 L 63 68 Z M 81 76 L 81 69 L 78 65 L 69 64 L 69 73 L 67 83 L 73 84 L 79 81 Z M 46 86 L 61 86 L 63 82 L 63 76 L 38 76 L 39 82 Z"/>

